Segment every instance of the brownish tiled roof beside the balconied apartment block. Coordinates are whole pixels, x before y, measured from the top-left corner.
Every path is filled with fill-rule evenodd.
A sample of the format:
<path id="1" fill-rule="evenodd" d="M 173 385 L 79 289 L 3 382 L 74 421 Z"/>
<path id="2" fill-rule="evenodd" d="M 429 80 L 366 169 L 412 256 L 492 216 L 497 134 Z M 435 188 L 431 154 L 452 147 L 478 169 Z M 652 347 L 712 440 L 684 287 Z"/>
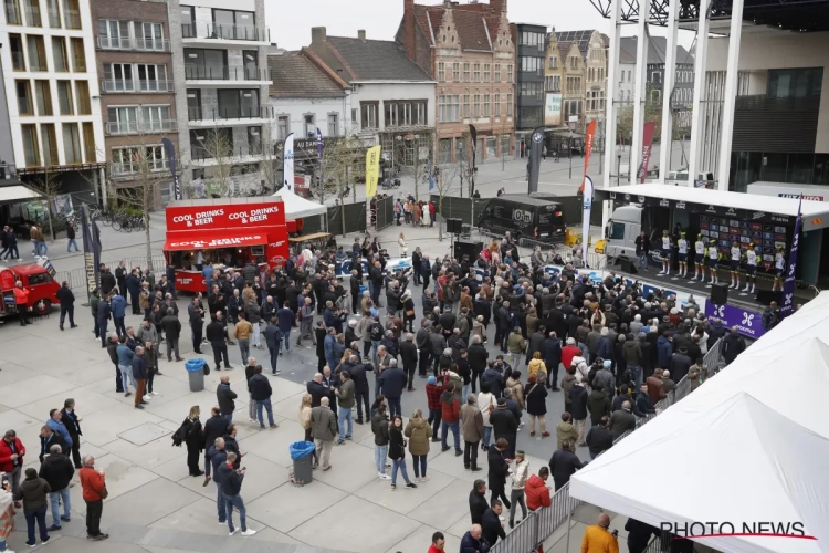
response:
<path id="1" fill-rule="evenodd" d="M 343 87 L 302 52 L 285 52 L 267 56 L 267 69 L 273 84 L 271 96 L 336 97 Z"/>

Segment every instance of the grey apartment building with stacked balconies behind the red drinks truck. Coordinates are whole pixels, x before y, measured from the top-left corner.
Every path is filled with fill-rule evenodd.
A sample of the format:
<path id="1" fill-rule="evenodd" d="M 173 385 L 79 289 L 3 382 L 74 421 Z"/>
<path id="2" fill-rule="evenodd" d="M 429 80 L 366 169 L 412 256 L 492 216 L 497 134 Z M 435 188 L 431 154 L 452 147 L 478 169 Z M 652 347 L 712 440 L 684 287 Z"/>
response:
<path id="1" fill-rule="evenodd" d="M 275 186 L 264 0 L 169 0 L 181 182 Z"/>

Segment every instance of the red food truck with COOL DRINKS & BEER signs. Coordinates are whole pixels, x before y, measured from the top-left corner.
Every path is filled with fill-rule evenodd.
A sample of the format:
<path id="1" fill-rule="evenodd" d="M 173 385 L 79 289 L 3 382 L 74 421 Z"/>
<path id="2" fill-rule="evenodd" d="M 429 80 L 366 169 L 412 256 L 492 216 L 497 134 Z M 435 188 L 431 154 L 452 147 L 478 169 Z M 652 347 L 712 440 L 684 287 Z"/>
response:
<path id="1" fill-rule="evenodd" d="M 201 269 L 281 267 L 288 255 L 285 209 L 281 198 L 178 200 L 166 210 L 164 254 L 176 268 L 176 290 L 206 292 Z M 200 269 L 201 268 L 201 269 Z"/>

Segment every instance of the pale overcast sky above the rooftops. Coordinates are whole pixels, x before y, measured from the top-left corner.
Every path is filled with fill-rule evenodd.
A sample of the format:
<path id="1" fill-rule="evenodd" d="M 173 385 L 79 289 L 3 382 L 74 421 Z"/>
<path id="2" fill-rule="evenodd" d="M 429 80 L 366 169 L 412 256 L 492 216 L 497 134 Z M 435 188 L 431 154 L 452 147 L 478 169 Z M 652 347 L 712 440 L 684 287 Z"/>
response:
<path id="1" fill-rule="evenodd" d="M 440 0 L 416 0 L 438 4 Z M 607 0 L 605 0 L 607 1 Z M 469 0 L 461 0 L 469 3 Z M 608 20 L 588 0 L 507 0 L 510 21 L 545 24 L 557 31 L 598 29 L 608 33 Z M 311 43 L 311 28 L 325 27 L 329 35 L 357 36 L 365 29 L 369 39 L 393 40 L 403 14 L 403 0 L 269 0 L 265 2 L 271 40 L 287 50 Z M 636 25 L 622 28 L 622 35 L 636 34 Z M 651 34 L 664 35 L 651 28 Z M 690 48 L 693 33 L 680 32 L 680 43 Z"/>

